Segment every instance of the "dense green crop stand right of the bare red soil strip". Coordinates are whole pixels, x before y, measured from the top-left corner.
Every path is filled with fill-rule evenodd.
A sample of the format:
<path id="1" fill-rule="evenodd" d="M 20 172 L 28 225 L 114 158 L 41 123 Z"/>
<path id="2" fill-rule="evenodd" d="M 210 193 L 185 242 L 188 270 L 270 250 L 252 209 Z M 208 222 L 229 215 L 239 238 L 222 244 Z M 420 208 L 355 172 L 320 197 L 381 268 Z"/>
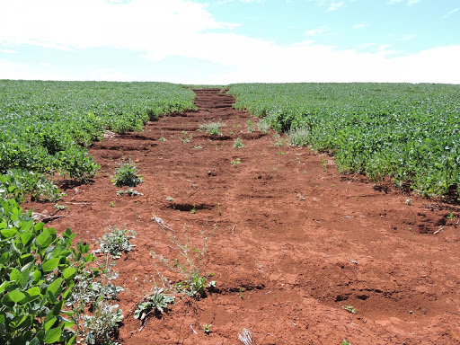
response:
<path id="1" fill-rule="evenodd" d="M 460 85 L 232 84 L 229 93 L 297 145 L 335 155 L 342 172 L 460 194 Z"/>

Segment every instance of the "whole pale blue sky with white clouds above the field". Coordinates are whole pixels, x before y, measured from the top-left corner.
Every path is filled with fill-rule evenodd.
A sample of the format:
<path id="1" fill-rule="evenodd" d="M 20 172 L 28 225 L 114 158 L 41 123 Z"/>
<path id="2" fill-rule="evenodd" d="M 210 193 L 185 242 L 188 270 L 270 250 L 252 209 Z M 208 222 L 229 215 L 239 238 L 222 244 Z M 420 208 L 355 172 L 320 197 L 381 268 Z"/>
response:
<path id="1" fill-rule="evenodd" d="M 0 0 L 0 79 L 460 84 L 460 0 Z"/>

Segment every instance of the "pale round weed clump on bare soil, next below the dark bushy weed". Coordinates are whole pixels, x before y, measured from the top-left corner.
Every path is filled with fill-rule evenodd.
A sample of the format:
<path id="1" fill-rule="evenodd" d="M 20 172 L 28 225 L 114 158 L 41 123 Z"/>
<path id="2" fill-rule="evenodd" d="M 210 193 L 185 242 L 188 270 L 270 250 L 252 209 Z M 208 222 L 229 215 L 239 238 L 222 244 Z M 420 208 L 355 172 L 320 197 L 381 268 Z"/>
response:
<path id="1" fill-rule="evenodd" d="M 126 228 L 118 229 L 117 227 L 109 227 L 106 234 L 102 234 L 99 239 L 101 248 L 95 252 L 105 252 L 111 254 L 113 259 L 119 259 L 123 252 L 130 252 L 134 247 L 129 242 L 131 238 L 136 238 L 136 233 Z"/>

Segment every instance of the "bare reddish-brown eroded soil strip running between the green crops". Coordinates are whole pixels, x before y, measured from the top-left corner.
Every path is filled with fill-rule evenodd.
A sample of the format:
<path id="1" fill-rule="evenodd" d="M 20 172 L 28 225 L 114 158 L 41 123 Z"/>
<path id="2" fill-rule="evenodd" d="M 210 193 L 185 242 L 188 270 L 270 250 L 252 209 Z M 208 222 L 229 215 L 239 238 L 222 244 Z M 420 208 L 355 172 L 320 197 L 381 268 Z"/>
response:
<path id="1" fill-rule="evenodd" d="M 460 344 L 458 206 L 337 173 L 331 157 L 277 146 L 273 132 L 248 133 L 251 118 L 234 111 L 225 93 L 196 93 L 199 111 L 94 143 L 102 173 L 68 187 L 65 210 L 24 205 L 64 216 L 48 226 L 68 226 L 90 243 L 107 226 L 137 232 L 137 247 L 116 266 L 125 288 L 122 344 L 241 344 L 243 328 L 259 345 Z M 197 131 L 204 120 L 226 122 L 222 136 Z M 233 147 L 236 137 L 244 148 Z M 111 175 L 122 157 L 137 163 L 145 182 L 136 190 L 144 196 L 117 196 Z M 241 164 L 231 164 L 237 158 Z M 215 227 L 204 270 L 215 273 L 217 289 L 150 316 L 139 331 L 133 313 L 153 288 L 151 252 L 178 256 L 154 214 L 197 247 Z"/>

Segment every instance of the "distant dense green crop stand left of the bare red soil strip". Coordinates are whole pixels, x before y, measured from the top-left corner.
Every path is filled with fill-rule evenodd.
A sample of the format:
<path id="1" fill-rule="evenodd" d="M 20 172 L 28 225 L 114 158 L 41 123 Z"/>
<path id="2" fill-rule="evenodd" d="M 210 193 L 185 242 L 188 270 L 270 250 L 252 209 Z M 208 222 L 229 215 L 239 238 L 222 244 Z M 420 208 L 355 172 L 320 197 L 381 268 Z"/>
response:
<path id="1" fill-rule="evenodd" d="M 194 97 L 167 83 L 0 81 L 0 174 L 86 180 L 99 167 L 86 147 L 106 130 L 141 130 L 161 114 L 193 109 Z"/>

